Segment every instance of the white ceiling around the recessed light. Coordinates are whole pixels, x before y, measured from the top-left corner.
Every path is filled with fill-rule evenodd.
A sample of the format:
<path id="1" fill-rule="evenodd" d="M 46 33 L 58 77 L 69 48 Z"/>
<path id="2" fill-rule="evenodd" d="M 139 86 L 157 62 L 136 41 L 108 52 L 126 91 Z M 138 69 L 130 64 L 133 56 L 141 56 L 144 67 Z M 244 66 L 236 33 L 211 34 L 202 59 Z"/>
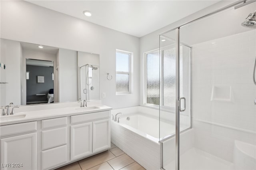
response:
<path id="1" fill-rule="evenodd" d="M 88 1 L 27 0 L 94 24 L 142 37 L 220 0 Z M 82 13 L 92 12 L 91 17 Z"/>

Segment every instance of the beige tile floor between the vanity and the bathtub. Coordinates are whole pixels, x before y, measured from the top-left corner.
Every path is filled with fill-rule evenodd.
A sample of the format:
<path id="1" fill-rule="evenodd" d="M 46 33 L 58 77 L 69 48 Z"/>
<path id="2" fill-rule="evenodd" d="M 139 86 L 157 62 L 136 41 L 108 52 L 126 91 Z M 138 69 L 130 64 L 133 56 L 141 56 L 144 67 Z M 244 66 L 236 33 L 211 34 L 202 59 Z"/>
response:
<path id="1" fill-rule="evenodd" d="M 105 152 L 68 164 L 56 170 L 145 170 L 116 145 Z"/>

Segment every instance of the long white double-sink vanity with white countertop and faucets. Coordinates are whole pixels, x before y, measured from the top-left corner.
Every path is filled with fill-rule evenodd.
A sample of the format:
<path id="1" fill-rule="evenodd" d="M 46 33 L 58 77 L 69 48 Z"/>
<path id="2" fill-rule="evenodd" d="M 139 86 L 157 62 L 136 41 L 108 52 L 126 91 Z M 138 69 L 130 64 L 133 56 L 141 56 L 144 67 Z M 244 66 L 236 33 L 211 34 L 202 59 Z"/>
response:
<path id="1" fill-rule="evenodd" d="M 58 168 L 110 148 L 110 107 L 61 104 L 0 117 L 1 170 Z"/>

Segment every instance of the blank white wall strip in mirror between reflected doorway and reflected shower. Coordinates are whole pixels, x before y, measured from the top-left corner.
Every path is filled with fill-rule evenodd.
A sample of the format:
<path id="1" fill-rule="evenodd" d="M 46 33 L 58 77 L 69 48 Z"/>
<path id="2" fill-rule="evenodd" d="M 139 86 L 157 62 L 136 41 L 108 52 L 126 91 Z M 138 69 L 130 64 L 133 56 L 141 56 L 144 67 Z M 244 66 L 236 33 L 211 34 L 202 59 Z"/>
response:
<path id="1" fill-rule="evenodd" d="M 59 102 L 78 100 L 77 51 L 59 49 Z"/>

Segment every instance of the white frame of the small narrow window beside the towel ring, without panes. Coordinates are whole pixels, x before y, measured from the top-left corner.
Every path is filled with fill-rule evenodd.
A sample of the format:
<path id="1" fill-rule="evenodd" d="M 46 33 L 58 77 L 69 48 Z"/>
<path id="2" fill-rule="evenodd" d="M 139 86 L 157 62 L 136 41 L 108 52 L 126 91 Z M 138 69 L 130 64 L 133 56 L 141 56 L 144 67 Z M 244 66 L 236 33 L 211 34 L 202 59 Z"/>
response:
<path id="1" fill-rule="evenodd" d="M 128 91 L 116 91 L 116 95 L 127 95 L 127 94 L 131 94 L 132 93 L 132 57 L 133 57 L 133 53 L 130 51 L 124 51 L 124 50 L 120 50 L 120 49 L 116 49 L 116 53 L 122 53 L 122 54 L 128 54 L 129 55 L 129 71 L 116 71 L 116 75 L 117 74 L 125 74 L 129 76 L 129 83 L 128 83 Z"/>

